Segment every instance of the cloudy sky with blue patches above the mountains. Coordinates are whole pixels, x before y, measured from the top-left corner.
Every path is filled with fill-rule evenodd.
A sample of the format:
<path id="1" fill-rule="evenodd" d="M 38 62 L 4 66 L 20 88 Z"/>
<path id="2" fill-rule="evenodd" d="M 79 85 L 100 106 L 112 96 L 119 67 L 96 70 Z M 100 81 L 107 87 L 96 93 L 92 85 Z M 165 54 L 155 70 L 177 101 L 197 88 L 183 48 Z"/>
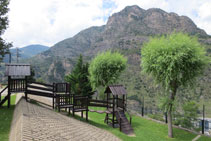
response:
<path id="1" fill-rule="evenodd" d="M 109 16 L 130 5 L 188 16 L 211 35 L 211 0 L 10 0 L 3 38 L 14 47 L 51 47 L 83 29 L 106 24 Z"/>

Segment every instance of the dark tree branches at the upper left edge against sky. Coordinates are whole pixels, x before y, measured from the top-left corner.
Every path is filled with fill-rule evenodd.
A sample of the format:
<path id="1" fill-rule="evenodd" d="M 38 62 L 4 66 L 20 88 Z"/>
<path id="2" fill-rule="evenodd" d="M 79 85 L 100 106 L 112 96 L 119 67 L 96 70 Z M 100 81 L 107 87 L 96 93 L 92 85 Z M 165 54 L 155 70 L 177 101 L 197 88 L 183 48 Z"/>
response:
<path id="1" fill-rule="evenodd" d="M 4 33 L 8 25 L 7 13 L 9 0 L 0 1 L 0 36 Z M 0 37 L 0 62 L 3 60 L 5 54 L 9 53 L 9 48 L 12 46 L 11 43 L 6 43 L 2 37 Z"/>

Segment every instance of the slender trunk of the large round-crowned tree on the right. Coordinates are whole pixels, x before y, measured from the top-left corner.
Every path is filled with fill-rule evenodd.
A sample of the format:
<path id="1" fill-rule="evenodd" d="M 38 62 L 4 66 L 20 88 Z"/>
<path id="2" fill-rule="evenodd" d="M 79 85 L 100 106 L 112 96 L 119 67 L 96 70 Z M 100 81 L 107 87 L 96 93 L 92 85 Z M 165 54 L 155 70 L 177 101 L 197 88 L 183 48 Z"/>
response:
<path id="1" fill-rule="evenodd" d="M 173 128 L 172 128 L 172 107 L 173 107 L 173 101 L 177 92 L 177 86 L 176 83 L 172 83 L 173 84 L 173 90 L 170 94 L 170 103 L 168 106 L 168 136 L 169 138 L 173 138 Z"/>

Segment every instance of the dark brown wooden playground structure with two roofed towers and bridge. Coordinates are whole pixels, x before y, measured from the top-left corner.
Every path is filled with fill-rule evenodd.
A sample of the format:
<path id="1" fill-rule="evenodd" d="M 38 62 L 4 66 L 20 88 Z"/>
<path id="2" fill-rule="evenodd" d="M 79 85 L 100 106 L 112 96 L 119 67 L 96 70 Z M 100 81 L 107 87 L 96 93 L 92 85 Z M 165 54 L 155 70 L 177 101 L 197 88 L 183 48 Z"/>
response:
<path id="1" fill-rule="evenodd" d="M 6 64 L 6 73 L 8 85 L 0 92 L 0 106 L 8 101 L 10 107 L 10 96 L 12 93 L 24 93 L 26 101 L 28 95 L 36 95 L 52 98 L 52 108 L 68 110 L 72 112 L 86 112 L 88 121 L 88 112 L 106 113 L 105 122 L 108 125 L 119 127 L 120 131 L 125 134 L 133 134 L 131 127 L 131 116 L 127 119 L 126 101 L 127 92 L 123 85 L 110 85 L 106 88 L 106 100 L 90 99 L 88 96 L 73 94 L 69 83 L 45 84 L 40 82 L 29 82 L 28 76 L 31 75 L 30 65 L 28 64 Z M 1 94 L 7 90 L 7 95 L 1 99 Z M 89 107 L 104 107 L 105 111 L 89 110 Z"/>

